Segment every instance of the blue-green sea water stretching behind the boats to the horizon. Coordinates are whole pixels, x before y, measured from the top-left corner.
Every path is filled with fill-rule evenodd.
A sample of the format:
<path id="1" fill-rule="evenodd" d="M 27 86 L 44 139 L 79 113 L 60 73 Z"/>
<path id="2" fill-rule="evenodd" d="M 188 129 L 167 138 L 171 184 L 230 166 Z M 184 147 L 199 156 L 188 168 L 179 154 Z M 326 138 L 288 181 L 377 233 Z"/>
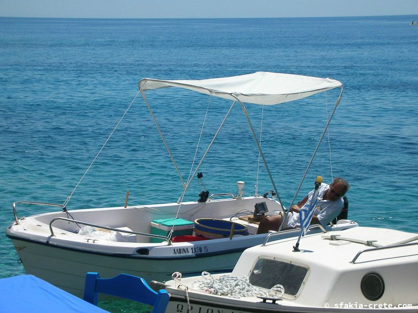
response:
<path id="1" fill-rule="evenodd" d="M 204 79 L 256 71 L 341 81 L 344 93 L 297 199 L 316 175 L 351 184 L 349 218 L 418 231 L 418 27 L 412 16 L 304 19 L 0 18 L 0 277 L 24 272 L 4 230 L 12 203 L 63 203 L 138 92 L 141 78 Z M 288 206 L 339 90 L 247 105 Z M 183 178 L 230 103 L 173 88 L 147 93 Z M 263 124 L 261 123 L 263 119 Z M 196 163 L 195 163 L 196 165 Z M 240 107 L 201 167 L 211 193 L 271 189 Z M 186 194 L 197 199 L 198 181 Z M 176 201 L 182 188 L 138 96 L 69 209 Z M 18 215 L 53 210 L 19 206 Z M 373 238 L 371 238 L 373 239 Z"/>

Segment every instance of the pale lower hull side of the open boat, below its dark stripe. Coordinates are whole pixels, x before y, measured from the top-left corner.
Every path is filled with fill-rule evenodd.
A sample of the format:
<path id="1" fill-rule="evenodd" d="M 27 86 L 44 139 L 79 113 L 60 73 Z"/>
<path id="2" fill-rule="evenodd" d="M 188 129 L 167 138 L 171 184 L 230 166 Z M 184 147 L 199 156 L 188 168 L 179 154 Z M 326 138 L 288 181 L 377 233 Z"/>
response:
<path id="1" fill-rule="evenodd" d="M 206 257 L 183 258 L 170 261 L 164 258 L 146 259 L 103 255 L 80 250 L 12 239 L 27 274 L 33 274 L 49 283 L 83 297 L 86 273 L 100 272 L 102 278 L 128 273 L 147 281 L 167 281 L 180 271 L 184 276 L 198 275 L 202 271 L 231 271 L 242 251 Z"/>

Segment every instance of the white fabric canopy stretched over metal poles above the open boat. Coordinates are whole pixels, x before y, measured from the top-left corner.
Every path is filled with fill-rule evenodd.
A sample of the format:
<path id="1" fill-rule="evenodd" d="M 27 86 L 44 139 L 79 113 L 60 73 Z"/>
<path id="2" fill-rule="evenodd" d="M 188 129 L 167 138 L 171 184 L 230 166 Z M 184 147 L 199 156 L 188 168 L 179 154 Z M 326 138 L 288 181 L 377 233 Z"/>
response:
<path id="1" fill-rule="evenodd" d="M 139 90 L 179 87 L 233 101 L 238 99 L 242 103 L 272 105 L 302 99 L 341 85 L 330 78 L 256 72 L 204 80 L 144 78 L 139 81 Z"/>

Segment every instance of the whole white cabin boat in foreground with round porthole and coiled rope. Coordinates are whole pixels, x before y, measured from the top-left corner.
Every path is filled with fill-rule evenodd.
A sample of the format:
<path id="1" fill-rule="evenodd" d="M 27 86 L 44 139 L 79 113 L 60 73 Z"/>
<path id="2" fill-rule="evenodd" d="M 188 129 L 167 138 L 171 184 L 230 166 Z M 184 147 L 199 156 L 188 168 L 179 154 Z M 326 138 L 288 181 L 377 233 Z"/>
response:
<path id="1" fill-rule="evenodd" d="M 269 235 L 273 236 L 275 234 Z M 166 313 L 418 312 L 418 235 L 356 227 L 245 250 L 234 270 L 166 282 Z"/>

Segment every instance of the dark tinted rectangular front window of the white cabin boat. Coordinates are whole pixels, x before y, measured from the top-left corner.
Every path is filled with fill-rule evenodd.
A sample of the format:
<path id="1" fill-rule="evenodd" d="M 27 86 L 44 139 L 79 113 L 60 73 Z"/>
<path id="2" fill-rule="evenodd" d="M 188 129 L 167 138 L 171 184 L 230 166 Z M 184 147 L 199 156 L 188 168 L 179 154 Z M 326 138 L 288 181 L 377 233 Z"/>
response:
<path id="1" fill-rule="evenodd" d="M 280 284 L 285 293 L 296 295 L 301 288 L 308 269 L 279 260 L 260 258 L 250 273 L 250 283 L 254 286 L 270 289 Z"/>

